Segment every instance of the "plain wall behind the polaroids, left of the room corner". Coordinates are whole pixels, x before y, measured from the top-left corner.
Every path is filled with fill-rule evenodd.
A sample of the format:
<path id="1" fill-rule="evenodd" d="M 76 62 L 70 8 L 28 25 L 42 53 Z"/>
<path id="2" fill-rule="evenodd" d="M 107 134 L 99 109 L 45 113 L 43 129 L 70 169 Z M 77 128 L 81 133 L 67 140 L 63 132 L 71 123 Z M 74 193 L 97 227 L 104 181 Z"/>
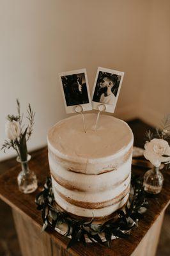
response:
<path id="1" fill-rule="evenodd" d="M 0 3 L 0 144 L 5 138 L 5 116 L 15 111 L 19 98 L 23 111 L 28 102 L 36 111 L 29 149 L 45 145 L 47 129 L 66 116 L 58 83 L 58 73 L 66 70 L 86 67 L 90 88 L 98 66 L 124 71 L 115 115 L 124 119 L 139 116 L 144 99 L 141 86 L 146 90 L 144 76 L 151 65 L 146 61 L 146 49 L 149 52 L 152 47 L 153 5 L 159 6 L 160 1 Z M 9 156 L 12 152 L 0 153 L 0 159 Z"/>

